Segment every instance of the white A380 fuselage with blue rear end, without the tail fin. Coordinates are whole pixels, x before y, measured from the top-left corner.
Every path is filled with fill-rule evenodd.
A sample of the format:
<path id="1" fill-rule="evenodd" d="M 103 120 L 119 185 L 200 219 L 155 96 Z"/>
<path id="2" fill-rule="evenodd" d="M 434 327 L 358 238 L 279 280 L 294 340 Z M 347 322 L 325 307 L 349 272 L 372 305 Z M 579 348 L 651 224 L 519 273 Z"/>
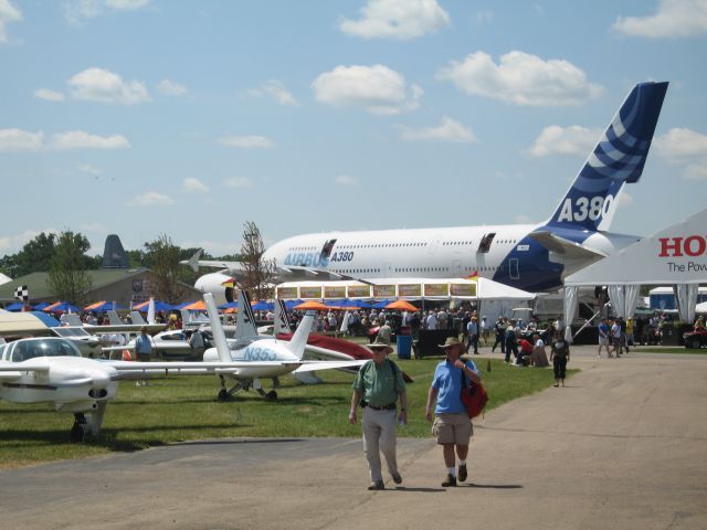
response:
<path id="1" fill-rule="evenodd" d="M 553 290 L 587 262 L 553 253 L 529 236 L 541 225 L 488 225 L 305 234 L 271 246 L 264 259 L 312 279 L 317 272 L 361 279 L 464 278 L 473 273 L 529 292 Z M 562 236 L 611 254 L 635 236 L 566 230 Z M 292 267 L 292 268 L 291 268 Z M 312 272 L 309 272 L 312 271 Z M 309 272 L 309 273 L 308 273 Z"/>

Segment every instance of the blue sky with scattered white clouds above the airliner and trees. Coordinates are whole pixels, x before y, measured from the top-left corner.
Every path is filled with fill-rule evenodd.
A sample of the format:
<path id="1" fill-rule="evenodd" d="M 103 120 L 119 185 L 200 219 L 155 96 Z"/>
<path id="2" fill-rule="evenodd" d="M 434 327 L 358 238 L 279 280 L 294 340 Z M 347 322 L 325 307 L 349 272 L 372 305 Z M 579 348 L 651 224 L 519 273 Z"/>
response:
<path id="1" fill-rule="evenodd" d="M 707 0 L 0 0 L 0 255 L 540 222 L 669 81 L 611 230 L 707 202 Z"/>

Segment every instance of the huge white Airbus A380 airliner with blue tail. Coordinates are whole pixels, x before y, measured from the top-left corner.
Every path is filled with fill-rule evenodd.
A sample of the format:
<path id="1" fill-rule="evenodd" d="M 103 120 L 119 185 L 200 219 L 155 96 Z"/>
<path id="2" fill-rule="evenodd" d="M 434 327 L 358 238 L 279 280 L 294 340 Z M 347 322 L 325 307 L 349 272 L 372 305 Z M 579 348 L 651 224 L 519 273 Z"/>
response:
<path id="1" fill-rule="evenodd" d="M 274 244 L 263 258 L 275 259 L 288 279 L 316 275 L 374 284 L 377 278 L 477 273 L 529 292 L 558 289 L 567 275 L 641 239 L 609 227 L 623 187 L 641 178 L 667 85 L 641 83 L 631 91 L 542 223 L 305 234 Z M 197 262 L 194 256 L 190 264 Z M 226 267 L 197 283 L 220 297 L 226 290 L 223 283 L 241 268 L 238 263 L 198 263 Z"/>

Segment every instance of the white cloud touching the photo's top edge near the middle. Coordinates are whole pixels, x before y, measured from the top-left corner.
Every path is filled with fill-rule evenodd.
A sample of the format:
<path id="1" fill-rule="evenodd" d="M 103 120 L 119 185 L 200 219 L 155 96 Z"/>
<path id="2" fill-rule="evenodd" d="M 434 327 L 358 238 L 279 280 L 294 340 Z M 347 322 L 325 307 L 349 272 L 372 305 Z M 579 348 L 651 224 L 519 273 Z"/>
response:
<path id="1" fill-rule="evenodd" d="M 359 20 L 344 19 L 339 29 L 363 39 L 408 40 L 433 33 L 450 23 L 436 0 L 369 0 Z"/>

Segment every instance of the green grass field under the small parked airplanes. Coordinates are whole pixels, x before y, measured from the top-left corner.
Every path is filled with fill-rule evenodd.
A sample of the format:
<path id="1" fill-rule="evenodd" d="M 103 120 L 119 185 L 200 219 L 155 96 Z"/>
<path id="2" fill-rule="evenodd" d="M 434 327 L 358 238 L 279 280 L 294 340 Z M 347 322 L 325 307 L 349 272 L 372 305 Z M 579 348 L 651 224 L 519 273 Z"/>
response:
<path id="1" fill-rule="evenodd" d="M 430 435 L 424 406 L 440 360 L 398 361 L 415 380 L 408 384 L 409 425 L 399 435 Z M 486 412 L 553 383 L 551 369 L 517 369 L 499 360 L 489 362 L 490 372 L 485 360 L 478 367 L 490 398 Z M 51 404 L 0 402 L 0 467 L 138 451 L 189 439 L 359 436 L 360 426 L 348 424 L 352 375 L 334 370 L 318 375 L 325 381 L 318 385 L 302 385 L 291 377 L 283 378 L 276 402 L 266 402 L 250 391 L 239 393 L 234 401 L 219 403 L 214 375 L 155 379 L 151 386 L 140 388 L 124 382 L 117 400 L 107 407 L 99 436 L 88 437 L 84 444 L 68 443 L 72 414 L 56 413 Z"/>

